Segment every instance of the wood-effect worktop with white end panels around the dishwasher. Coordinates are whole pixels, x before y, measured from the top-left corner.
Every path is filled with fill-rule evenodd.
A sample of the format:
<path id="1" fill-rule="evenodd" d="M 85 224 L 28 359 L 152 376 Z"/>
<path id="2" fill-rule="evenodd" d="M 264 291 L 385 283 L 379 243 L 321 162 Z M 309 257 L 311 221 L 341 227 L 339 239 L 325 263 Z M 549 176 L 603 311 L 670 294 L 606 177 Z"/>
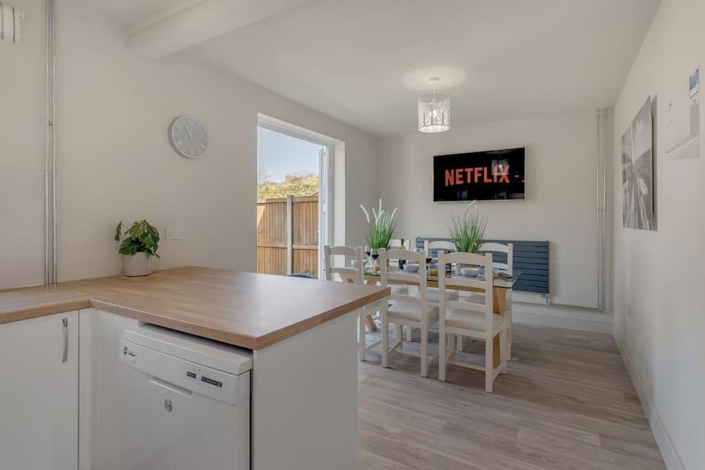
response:
<path id="1" fill-rule="evenodd" d="M 111 428 L 119 416 L 110 404 L 119 398 L 120 345 L 126 329 L 148 323 L 251 352 L 253 469 L 355 469 L 355 319 L 357 309 L 386 295 L 382 287 L 174 268 L 143 278 L 112 276 L 0 291 L 0 338 L 14 323 L 56 314 L 62 321 L 68 318 L 66 340 L 75 338 L 77 347 L 61 366 L 78 363 L 73 364 L 79 382 L 78 468 L 119 468 L 110 457 L 109 437 L 118 432 Z M 63 315 L 69 311 L 78 311 L 75 325 L 74 317 Z M 71 426 L 64 429 L 71 434 Z"/>

